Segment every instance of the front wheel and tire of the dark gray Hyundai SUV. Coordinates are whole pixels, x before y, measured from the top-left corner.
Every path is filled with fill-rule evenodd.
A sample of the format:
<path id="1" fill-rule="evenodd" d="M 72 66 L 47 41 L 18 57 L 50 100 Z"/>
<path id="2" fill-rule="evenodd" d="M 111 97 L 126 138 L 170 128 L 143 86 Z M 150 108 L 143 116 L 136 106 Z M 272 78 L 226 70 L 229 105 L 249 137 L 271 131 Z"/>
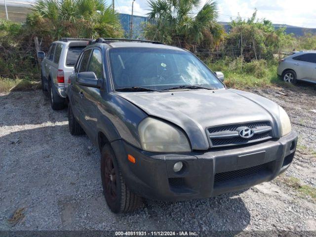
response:
<path id="1" fill-rule="evenodd" d="M 127 213 L 142 205 L 142 198 L 126 187 L 110 144 L 106 144 L 101 152 L 101 179 L 104 196 L 112 212 Z"/>

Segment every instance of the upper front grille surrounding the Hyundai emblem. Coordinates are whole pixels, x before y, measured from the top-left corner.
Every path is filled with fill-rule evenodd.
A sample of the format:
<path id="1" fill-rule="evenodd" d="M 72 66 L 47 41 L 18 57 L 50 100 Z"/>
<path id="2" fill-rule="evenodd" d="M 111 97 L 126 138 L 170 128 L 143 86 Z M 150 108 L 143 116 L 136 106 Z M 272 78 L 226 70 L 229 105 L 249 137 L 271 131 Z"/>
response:
<path id="1" fill-rule="evenodd" d="M 270 130 L 260 133 L 255 132 L 255 134 L 251 138 L 242 138 L 238 135 L 238 127 L 248 127 L 253 129 L 254 131 L 259 131 L 265 128 L 269 128 Z M 259 121 L 210 127 L 207 129 L 207 135 L 209 136 L 210 147 L 213 148 L 244 145 L 254 142 L 265 141 L 273 137 L 273 131 L 270 121 Z M 225 135 L 232 136 L 225 137 Z"/>

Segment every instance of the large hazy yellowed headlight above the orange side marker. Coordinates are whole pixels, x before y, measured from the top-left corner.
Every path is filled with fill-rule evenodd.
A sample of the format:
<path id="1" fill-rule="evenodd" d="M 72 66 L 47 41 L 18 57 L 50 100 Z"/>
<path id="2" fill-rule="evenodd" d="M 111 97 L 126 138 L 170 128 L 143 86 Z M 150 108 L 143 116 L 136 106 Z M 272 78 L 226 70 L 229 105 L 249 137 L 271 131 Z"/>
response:
<path id="1" fill-rule="evenodd" d="M 145 118 L 138 126 L 142 149 L 148 152 L 191 152 L 190 143 L 176 126 Z"/>

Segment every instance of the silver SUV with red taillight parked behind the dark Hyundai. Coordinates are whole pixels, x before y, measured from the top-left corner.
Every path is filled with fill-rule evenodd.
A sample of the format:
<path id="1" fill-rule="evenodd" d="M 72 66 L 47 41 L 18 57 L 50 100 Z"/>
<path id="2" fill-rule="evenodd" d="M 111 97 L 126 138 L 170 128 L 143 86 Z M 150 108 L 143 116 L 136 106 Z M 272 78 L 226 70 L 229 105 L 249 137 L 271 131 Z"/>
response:
<path id="1" fill-rule="evenodd" d="M 46 57 L 44 52 L 38 52 L 38 57 L 43 59 L 40 70 L 42 89 L 49 91 L 53 110 L 64 108 L 68 77 L 88 42 L 89 39 L 62 38 L 52 42 Z"/>

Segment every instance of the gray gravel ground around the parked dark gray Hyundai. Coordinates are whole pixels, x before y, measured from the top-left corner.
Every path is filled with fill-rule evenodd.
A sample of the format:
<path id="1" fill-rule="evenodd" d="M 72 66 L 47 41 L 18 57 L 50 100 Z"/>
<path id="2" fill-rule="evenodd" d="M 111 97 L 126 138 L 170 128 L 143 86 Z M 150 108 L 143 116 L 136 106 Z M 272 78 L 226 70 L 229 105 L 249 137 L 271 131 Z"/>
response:
<path id="1" fill-rule="evenodd" d="M 299 133 L 285 176 L 316 187 L 316 87 L 253 92 L 280 104 Z M 280 178 L 243 193 L 146 200 L 134 213 L 113 214 L 102 194 L 99 151 L 86 136 L 70 135 L 66 110 L 53 112 L 37 90 L 0 94 L 0 111 L 0 230 L 316 230 L 315 199 Z M 25 216 L 10 223 L 19 208 Z"/>

